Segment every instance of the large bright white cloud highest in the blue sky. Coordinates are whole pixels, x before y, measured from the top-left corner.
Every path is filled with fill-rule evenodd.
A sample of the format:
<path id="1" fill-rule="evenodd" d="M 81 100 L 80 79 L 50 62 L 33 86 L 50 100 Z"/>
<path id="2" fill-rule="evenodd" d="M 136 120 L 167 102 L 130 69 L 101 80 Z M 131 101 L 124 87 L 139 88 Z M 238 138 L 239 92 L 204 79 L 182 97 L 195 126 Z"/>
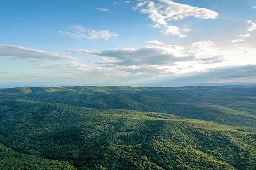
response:
<path id="1" fill-rule="evenodd" d="M 218 13 L 206 8 L 191 7 L 187 4 L 175 3 L 171 0 L 158 0 L 159 3 L 155 3 L 150 0 L 141 0 L 137 3 L 133 10 L 139 9 L 141 13 L 148 14 L 155 27 L 164 27 L 165 35 L 172 34 L 178 35 L 180 38 L 185 37 L 183 32 L 190 31 L 190 29 L 180 29 L 177 26 L 169 26 L 168 22 L 171 20 L 183 20 L 184 18 L 193 17 L 199 19 L 216 19 Z"/>

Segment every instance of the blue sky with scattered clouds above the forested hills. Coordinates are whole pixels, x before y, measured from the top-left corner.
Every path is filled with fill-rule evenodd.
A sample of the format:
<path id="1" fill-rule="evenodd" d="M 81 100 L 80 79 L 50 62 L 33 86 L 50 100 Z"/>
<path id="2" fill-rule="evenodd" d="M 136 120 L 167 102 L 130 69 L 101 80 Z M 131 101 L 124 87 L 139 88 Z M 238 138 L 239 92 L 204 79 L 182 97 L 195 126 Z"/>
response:
<path id="1" fill-rule="evenodd" d="M 256 84 L 256 0 L 0 0 L 0 87 Z"/>

